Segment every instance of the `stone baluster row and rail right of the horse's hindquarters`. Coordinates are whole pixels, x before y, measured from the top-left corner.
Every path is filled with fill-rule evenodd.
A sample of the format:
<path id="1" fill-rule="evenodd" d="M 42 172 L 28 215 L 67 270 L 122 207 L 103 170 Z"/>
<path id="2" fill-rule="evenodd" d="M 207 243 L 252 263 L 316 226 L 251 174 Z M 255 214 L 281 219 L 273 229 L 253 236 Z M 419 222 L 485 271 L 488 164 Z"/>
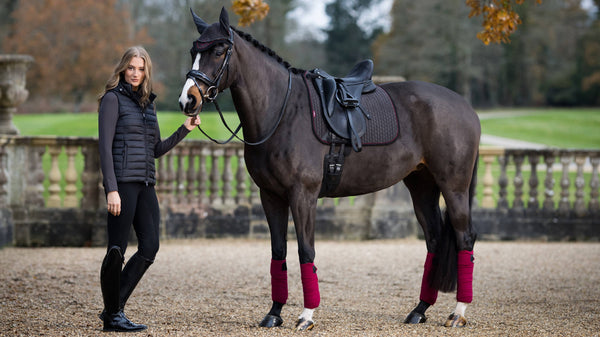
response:
<path id="1" fill-rule="evenodd" d="M 484 165 L 484 175 L 480 177 L 483 208 L 562 216 L 600 212 L 600 150 L 481 148 L 480 156 L 480 165 Z M 499 173 L 494 177 L 492 167 L 496 161 Z M 494 195 L 492 187 L 496 181 L 498 193 Z"/>

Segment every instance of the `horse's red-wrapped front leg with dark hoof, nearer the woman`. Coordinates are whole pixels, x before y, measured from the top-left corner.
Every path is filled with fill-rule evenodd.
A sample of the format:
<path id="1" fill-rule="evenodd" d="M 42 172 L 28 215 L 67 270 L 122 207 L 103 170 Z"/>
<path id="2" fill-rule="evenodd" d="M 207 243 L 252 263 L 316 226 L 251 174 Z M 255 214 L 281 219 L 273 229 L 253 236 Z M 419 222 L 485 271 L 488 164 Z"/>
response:
<path id="1" fill-rule="evenodd" d="M 273 306 L 260 322 L 261 327 L 272 328 L 283 324 L 281 309 L 287 302 L 287 224 L 289 207 L 281 198 L 261 190 L 262 202 L 271 232 L 271 299 Z"/>

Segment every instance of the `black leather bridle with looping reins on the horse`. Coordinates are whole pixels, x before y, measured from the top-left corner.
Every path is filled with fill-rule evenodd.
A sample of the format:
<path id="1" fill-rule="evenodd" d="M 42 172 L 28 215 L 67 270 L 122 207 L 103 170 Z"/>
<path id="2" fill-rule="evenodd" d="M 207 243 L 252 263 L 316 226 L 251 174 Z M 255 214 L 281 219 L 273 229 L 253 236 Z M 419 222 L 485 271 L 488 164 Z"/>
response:
<path id="1" fill-rule="evenodd" d="M 283 101 L 283 106 L 281 107 L 279 116 L 277 118 L 277 122 L 275 123 L 273 128 L 267 133 L 267 135 L 263 139 L 261 139 L 258 142 L 248 142 L 248 141 L 240 138 L 237 135 L 238 132 L 240 131 L 240 129 L 242 128 L 242 124 L 240 123 L 237 126 L 237 128 L 235 129 L 235 131 L 231 130 L 231 128 L 229 127 L 229 124 L 227 124 L 227 122 L 225 121 L 225 117 L 223 116 L 223 112 L 221 111 L 219 104 L 216 101 L 217 96 L 221 92 L 221 91 L 219 91 L 219 84 L 221 83 L 221 79 L 223 78 L 223 74 L 225 73 L 225 70 L 227 70 L 227 76 L 229 76 L 229 59 L 233 52 L 233 30 L 231 28 L 229 29 L 229 38 L 227 39 L 227 43 L 229 43 L 230 46 L 227 49 L 225 59 L 223 60 L 221 67 L 219 67 L 219 70 L 217 71 L 217 74 L 216 74 L 214 80 L 211 80 L 210 77 L 208 77 L 204 72 L 202 72 L 200 70 L 194 70 L 194 69 L 188 71 L 188 73 L 186 74 L 186 78 L 191 79 L 194 82 L 194 85 L 200 92 L 200 96 L 202 97 L 203 101 L 204 101 L 204 99 L 206 99 L 208 102 L 213 103 L 215 105 L 215 108 L 219 112 L 219 117 L 221 118 L 221 122 L 223 122 L 223 125 L 225 125 L 225 128 L 227 128 L 227 130 L 229 132 L 231 132 L 231 137 L 229 137 L 229 139 L 227 139 L 225 141 L 220 141 L 220 140 L 216 140 L 216 139 L 212 138 L 211 136 L 209 136 L 208 134 L 206 134 L 206 132 L 204 132 L 204 130 L 202 130 L 202 128 L 200 128 L 200 125 L 198 125 L 198 130 L 200 130 L 200 132 L 202 132 L 202 134 L 205 135 L 208 139 L 210 139 L 211 141 L 213 141 L 217 144 L 227 144 L 231 140 L 233 140 L 233 138 L 237 138 L 238 140 L 240 140 L 241 142 L 243 142 L 246 145 L 263 144 L 269 138 L 271 138 L 271 136 L 275 133 L 275 130 L 277 129 L 277 127 L 279 126 L 279 123 L 281 123 L 281 120 L 283 118 L 283 114 L 284 114 L 285 108 L 287 106 L 288 98 L 290 96 L 290 92 L 292 91 L 291 70 L 288 68 L 288 87 L 287 87 L 287 91 L 285 93 L 285 99 Z M 196 44 L 194 44 L 194 47 L 196 47 Z M 198 51 L 198 52 L 200 52 L 200 51 Z M 200 88 L 200 84 L 198 82 L 202 82 L 208 86 L 208 89 L 206 89 L 206 93 L 204 93 L 202 91 L 202 88 Z M 202 104 L 200 104 L 200 107 L 202 107 L 204 105 L 204 102 L 201 102 L 201 103 Z M 198 109 L 200 109 L 200 107 Z"/>

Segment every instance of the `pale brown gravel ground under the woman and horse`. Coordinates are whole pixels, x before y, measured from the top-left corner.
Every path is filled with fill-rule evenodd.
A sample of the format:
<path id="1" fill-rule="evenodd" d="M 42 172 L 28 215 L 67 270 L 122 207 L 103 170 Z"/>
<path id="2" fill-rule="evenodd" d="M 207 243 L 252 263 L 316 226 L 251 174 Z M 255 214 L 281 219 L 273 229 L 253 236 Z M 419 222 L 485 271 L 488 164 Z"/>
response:
<path id="1" fill-rule="evenodd" d="M 163 242 L 126 312 L 139 336 L 288 336 L 302 311 L 296 244 L 288 245 L 284 326 L 259 328 L 270 308 L 266 240 Z M 134 252 L 131 247 L 126 258 Z M 99 268 L 104 248 L 0 249 L 0 336 L 107 336 Z M 440 294 L 425 324 L 418 302 L 425 243 L 319 241 L 321 306 L 314 336 L 599 336 L 600 243 L 478 242 L 474 302 L 462 329 L 441 325 L 455 306 Z"/>

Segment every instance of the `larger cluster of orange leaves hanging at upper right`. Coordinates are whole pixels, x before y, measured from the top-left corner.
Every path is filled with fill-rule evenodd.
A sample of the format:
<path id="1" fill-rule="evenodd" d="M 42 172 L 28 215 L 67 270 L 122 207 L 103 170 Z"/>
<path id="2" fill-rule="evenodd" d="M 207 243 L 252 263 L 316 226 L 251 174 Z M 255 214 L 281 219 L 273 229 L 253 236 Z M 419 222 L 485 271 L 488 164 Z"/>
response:
<path id="1" fill-rule="evenodd" d="M 477 38 L 486 45 L 490 42 L 508 43 L 509 36 L 517 30 L 521 24 L 519 14 L 512 8 L 513 0 L 466 0 L 467 6 L 471 7 L 469 17 L 483 16 L 483 30 L 477 33 Z M 514 0 L 517 5 L 522 5 L 525 0 Z M 535 0 L 541 4 L 542 0 Z"/>

